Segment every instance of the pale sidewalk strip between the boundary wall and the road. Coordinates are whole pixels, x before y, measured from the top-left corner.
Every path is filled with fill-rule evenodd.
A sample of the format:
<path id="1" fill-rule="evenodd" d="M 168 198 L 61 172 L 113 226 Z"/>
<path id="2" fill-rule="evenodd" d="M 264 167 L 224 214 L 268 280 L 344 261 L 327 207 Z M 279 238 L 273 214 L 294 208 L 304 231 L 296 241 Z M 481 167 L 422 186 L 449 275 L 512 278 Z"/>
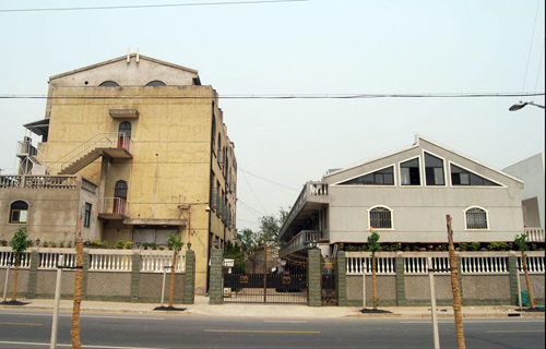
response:
<path id="1" fill-rule="evenodd" d="M 29 302 L 24 309 L 52 311 L 54 300 L 21 300 Z M 61 311 L 72 311 L 73 302 L 70 300 L 61 301 Z M 227 316 L 227 317 L 262 317 L 262 318 L 429 318 L 430 308 L 427 306 L 400 306 L 381 308 L 391 314 L 363 314 L 360 308 L 337 308 L 321 306 L 311 308 L 307 305 L 290 304 L 223 304 L 209 305 L 209 298 L 195 297 L 195 304 L 176 305 L 186 308 L 185 312 L 165 312 L 154 311 L 159 304 L 151 303 L 118 303 L 118 302 L 96 302 L 83 301 L 82 312 L 95 313 L 117 313 L 117 314 L 178 314 L 178 315 L 204 315 L 204 316 Z M 21 306 L 0 305 L 0 310 L 17 310 Z M 519 313 L 515 306 L 465 306 L 463 308 L 464 317 L 544 317 L 544 312 L 538 313 Z M 438 308 L 438 317 L 453 317 L 453 310 L 448 306 Z"/>

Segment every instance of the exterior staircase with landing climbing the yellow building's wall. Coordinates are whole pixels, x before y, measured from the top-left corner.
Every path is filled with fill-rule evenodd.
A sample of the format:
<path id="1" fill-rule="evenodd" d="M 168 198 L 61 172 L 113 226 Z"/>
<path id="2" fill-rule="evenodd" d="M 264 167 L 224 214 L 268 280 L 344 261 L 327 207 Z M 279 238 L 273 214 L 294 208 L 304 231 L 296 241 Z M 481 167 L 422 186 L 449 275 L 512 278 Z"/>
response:
<path id="1" fill-rule="evenodd" d="M 131 149 L 132 141 L 124 133 L 99 133 L 50 164 L 48 168 L 60 167 L 59 174 L 75 174 L 103 156 L 114 161 L 132 159 Z"/>

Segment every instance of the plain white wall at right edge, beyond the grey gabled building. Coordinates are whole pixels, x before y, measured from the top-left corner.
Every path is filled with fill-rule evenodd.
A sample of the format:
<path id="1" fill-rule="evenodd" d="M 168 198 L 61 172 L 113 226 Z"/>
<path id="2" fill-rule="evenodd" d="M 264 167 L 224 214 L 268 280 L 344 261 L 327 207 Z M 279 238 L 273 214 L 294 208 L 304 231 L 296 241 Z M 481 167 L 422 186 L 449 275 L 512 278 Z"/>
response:
<path id="1" fill-rule="evenodd" d="M 525 182 L 521 198 L 526 207 L 525 226 L 529 228 L 543 228 L 545 226 L 545 154 L 538 154 L 505 169 Z"/>

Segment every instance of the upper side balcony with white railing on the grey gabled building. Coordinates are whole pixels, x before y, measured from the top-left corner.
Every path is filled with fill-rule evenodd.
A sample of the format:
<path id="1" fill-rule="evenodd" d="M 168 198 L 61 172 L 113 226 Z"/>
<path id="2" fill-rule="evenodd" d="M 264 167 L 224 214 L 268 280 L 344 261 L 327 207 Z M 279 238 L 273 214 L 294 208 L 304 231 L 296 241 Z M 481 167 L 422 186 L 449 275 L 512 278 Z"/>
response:
<path id="1" fill-rule="evenodd" d="M 322 182 L 306 183 L 288 214 L 286 222 L 281 228 L 278 233 L 281 240 L 289 241 L 295 234 L 301 231 L 301 226 L 308 219 L 309 215 L 328 205 L 328 184 Z"/>

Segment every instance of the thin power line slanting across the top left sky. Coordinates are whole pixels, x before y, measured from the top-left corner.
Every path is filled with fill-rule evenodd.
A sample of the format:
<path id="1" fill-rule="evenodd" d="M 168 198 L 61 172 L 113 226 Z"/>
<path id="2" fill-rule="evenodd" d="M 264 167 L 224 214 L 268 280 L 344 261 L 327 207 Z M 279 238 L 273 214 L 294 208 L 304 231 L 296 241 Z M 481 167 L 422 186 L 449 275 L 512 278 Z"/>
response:
<path id="1" fill-rule="evenodd" d="M 281 2 L 307 2 L 307 1 L 312 1 L 312 0 L 259 0 L 259 1 L 228 1 L 228 2 L 188 2 L 188 3 L 164 3 L 164 4 L 135 4 L 135 5 L 115 5 L 115 7 L 0 9 L 0 13 L 127 10 L 127 9 L 181 8 L 181 7 L 216 7 L 216 5 L 268 4 L 268 3 L 281 3 Z"/>

